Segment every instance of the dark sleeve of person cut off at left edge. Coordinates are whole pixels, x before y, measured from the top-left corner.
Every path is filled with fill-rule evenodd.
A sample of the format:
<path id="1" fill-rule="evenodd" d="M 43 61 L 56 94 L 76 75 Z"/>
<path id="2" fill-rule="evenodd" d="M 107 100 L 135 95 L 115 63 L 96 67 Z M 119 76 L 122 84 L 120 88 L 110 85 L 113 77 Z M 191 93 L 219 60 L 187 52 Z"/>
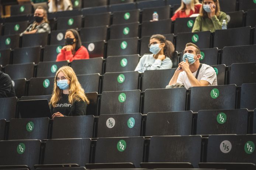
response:
<path id="1" fill-rule="evenodd" d="M 2 97 L 15 97 L 15 91 L 10 76 L 0 71 L 0 98 Z"/>

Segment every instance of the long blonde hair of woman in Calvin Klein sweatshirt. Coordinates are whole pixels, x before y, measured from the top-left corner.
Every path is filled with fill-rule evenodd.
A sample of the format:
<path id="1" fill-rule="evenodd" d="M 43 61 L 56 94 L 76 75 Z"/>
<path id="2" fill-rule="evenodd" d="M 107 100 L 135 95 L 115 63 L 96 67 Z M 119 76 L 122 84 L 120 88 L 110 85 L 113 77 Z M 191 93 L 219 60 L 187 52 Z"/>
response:
<path id="1" fill-rule="evenodd" d="M 59 72 L 63 72 L 66 77 L 70 80 L 69 83 L 69 103 L 73 104 L 75 101 L 86 101 L 87 104 L 89 104 L 89 100 L 87 99 L 86 95 L 84 94 L 84 89 L 82 88 L 81 84 L 79 83 L 76 73 L 70 66 L 62 66 L 59 68 L 59 70 L 56 72 L 55 79 L 54 79 L 54 85 L 53 85 L 53 91 L 52 91 L 52 98 L 49 102 L 50 105 L 55 107 L 55 104 L 60 100 L 62 90 L 57 86 L 57 80 L 56 77 L 59 74 Z"/>

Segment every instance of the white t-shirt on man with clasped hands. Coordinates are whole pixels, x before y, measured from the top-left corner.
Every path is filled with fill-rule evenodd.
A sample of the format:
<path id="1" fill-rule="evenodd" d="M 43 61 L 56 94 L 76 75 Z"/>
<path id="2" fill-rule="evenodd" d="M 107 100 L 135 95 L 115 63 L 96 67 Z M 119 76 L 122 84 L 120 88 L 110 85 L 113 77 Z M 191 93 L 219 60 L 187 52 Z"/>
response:
<path id="1" fill-rule="evenodd" d="M 194 77 L 196 77 L 197 71 L 192 73 Z M 217 75 L 215 73 L 215 70 L 207 64 L 202 64 L 202 67 L 199 71 L 197 80 L 205 80 L 209 82 L 208 86 L 217 86 Z M 188 89 L 191 87 L 191 84 L 188 80 L 186 72 L 180 72 L 177 83 L 184 84 L 184 86 Z"/>

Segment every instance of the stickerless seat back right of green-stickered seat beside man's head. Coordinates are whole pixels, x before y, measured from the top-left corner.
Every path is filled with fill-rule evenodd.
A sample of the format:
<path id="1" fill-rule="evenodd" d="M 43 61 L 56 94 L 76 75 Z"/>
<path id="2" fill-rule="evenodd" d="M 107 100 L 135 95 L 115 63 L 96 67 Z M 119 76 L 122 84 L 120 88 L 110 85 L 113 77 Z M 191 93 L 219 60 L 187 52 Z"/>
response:
<path id="1" fill-rule="evenodd" d="M 256 45 L 224 47 L 221 64 L 256 62 Z"/>

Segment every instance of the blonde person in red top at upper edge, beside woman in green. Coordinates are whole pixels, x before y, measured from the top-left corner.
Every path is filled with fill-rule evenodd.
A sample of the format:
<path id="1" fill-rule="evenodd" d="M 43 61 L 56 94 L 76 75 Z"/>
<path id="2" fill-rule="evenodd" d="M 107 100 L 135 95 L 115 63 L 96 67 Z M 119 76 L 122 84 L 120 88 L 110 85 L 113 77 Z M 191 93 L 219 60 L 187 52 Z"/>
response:
<path id="1" fill-rule="evenodd" d="M 188 18 L 190 15 L 198 14 L 202 4 L 198 0 L 181 0 L 181 6 L 174 12 L 172 21 L 176 18 Z"/>

